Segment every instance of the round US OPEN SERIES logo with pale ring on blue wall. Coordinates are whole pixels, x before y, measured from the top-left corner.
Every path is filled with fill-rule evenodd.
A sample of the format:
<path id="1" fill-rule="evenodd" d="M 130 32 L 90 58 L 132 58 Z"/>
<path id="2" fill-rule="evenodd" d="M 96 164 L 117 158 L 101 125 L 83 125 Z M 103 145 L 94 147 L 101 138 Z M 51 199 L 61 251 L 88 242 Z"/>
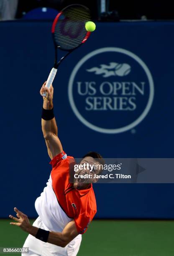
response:
<path id="1" fill-rule="evenodd" d="M 125 49 L 105 47 L 87 54 L 74 67 L 68 97 L 74 114 L 88 128 L 122 133 L 148 114 L 154 82 L 138 56 Z"/>

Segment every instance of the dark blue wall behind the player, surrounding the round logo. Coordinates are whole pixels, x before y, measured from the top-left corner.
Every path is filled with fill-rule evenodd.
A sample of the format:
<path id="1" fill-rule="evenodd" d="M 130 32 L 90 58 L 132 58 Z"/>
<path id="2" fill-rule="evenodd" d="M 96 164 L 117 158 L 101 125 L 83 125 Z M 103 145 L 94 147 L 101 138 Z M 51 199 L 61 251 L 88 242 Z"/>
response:
<path id="1" fill-rule="evenodd" d="M 41 132 L 42 98 L 39 95 L 54 61 L 50 30 L 51 22 L 0 23 L 2 218 L 13 213 L 15 206 L 28 216 L 36 217 L 34 202 L 51 171 Z M 174 22 L 97 23 L 97 30 L 88 42 L 62 62 L 54 81 L 54 110 L 59 137 L 68 155 L 81 157 L 87 151 L 94 150 L 105 158 L 174 157 L 173 31 Z M 74 66 L 83 56 L 102 47 L 118 47 L 136 54 L 153 77 L 153 104 L 132 132 L 107 134 L 94 131 L 77 119 L 69 104 L 68 83 Z M 109 64 L 112 61 L 110 54 L 108 58 L 107 55 L 99 58 L 99 63 Z M 98 61 L 91 61 L 88 68 L 96 66 Z M 122 62 L 125 61 L 128 60 L 123 58 Z M 133 66 L 131 62 L 131 65 L 133 70 L 136 64 Z M 136 70 L 133 74 L 134 77 L 137 75 L 136 81 L 140 81 L 141 72 L 136 68 L 137 74 Z M 92 81 L 95 74 L 88 73 L 88 76 Z M 145 98 L 148 97 L 148 90 L 146 93 Z M 138 109 L 141 107 L 143 105 Z M 113 112 L 108 112 L 108 116 L 111 115 Z M 91 122 L 98 121 L 100 126 L 106 125 L 100 113 L 97 120 L 93 113 L 87 117 L 93 118 Z M 122 121 L 120 112 L 118 122 Z M 96 184 L 94 188 L 97 218 L 174 217 L 173 184 Z"/>

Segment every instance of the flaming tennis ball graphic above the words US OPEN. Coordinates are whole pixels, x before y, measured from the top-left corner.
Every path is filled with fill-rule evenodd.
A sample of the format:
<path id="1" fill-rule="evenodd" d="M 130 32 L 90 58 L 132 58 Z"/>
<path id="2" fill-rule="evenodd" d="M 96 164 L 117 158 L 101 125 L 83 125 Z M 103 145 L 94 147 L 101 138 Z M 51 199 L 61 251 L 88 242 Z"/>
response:
<path id="1" fill-rule="evenodd" d="M 102 77 L 111 77 L 111 76 L 119 76 L 124 77 L 128 75 L 131 71 L 131 67 L 127 63 L 116 63 L 110 62 L 109 65 L 100 64 L 100 68 L 92 67 L 91 69 L 87 69 L 87 72 L 95 72 L 95 74 L 100 75 Z"/>

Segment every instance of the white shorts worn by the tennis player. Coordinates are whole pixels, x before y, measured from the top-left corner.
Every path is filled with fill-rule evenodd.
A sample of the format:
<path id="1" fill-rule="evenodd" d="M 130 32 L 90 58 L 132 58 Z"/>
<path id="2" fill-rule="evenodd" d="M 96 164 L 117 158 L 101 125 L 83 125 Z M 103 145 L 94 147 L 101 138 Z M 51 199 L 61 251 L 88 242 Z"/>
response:
<path id="1" fill-rule="evenodd" d="M 38 217 L 35 222 L 33 223 L 33 226 L 37 228 L 42 228 L 44 230 L 49 230 L 46 228 L 44 223 L 42 222 L 41 218 Z M 50 230 L 49 230 L 50 231 Z M 82 240 L 82 235 L 78 235 L 76 238 L 74 238 L 66 247 L 62 248 L 60 246 L 56 246 L 51 243 L 45 243 L 34 236 L 31 236 L 30 234 L 26 238 L 26 241 L 23 245 L 23 247 L 29 247 L 29 253 L 22 253 L 22 256 L 76 256 L 80 243 Z"/>

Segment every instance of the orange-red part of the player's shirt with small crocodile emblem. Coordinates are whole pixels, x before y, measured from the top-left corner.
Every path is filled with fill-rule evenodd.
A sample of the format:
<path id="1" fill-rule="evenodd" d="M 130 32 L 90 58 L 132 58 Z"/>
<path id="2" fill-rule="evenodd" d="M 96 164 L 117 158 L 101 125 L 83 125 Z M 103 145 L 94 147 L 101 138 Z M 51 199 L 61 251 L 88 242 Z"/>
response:
<path id="1" fill-rule="evenodd" d="M 73 183 L 69 183 L 69 171 L 75 160 L 64 151 L 55 156 L 50 164 L 52 189 L 57 201 L 66 215 L 74 219 L 79 234 L 83 234 L 97 212 L 92 184 L 87 189 L 78 190 Z"/>

